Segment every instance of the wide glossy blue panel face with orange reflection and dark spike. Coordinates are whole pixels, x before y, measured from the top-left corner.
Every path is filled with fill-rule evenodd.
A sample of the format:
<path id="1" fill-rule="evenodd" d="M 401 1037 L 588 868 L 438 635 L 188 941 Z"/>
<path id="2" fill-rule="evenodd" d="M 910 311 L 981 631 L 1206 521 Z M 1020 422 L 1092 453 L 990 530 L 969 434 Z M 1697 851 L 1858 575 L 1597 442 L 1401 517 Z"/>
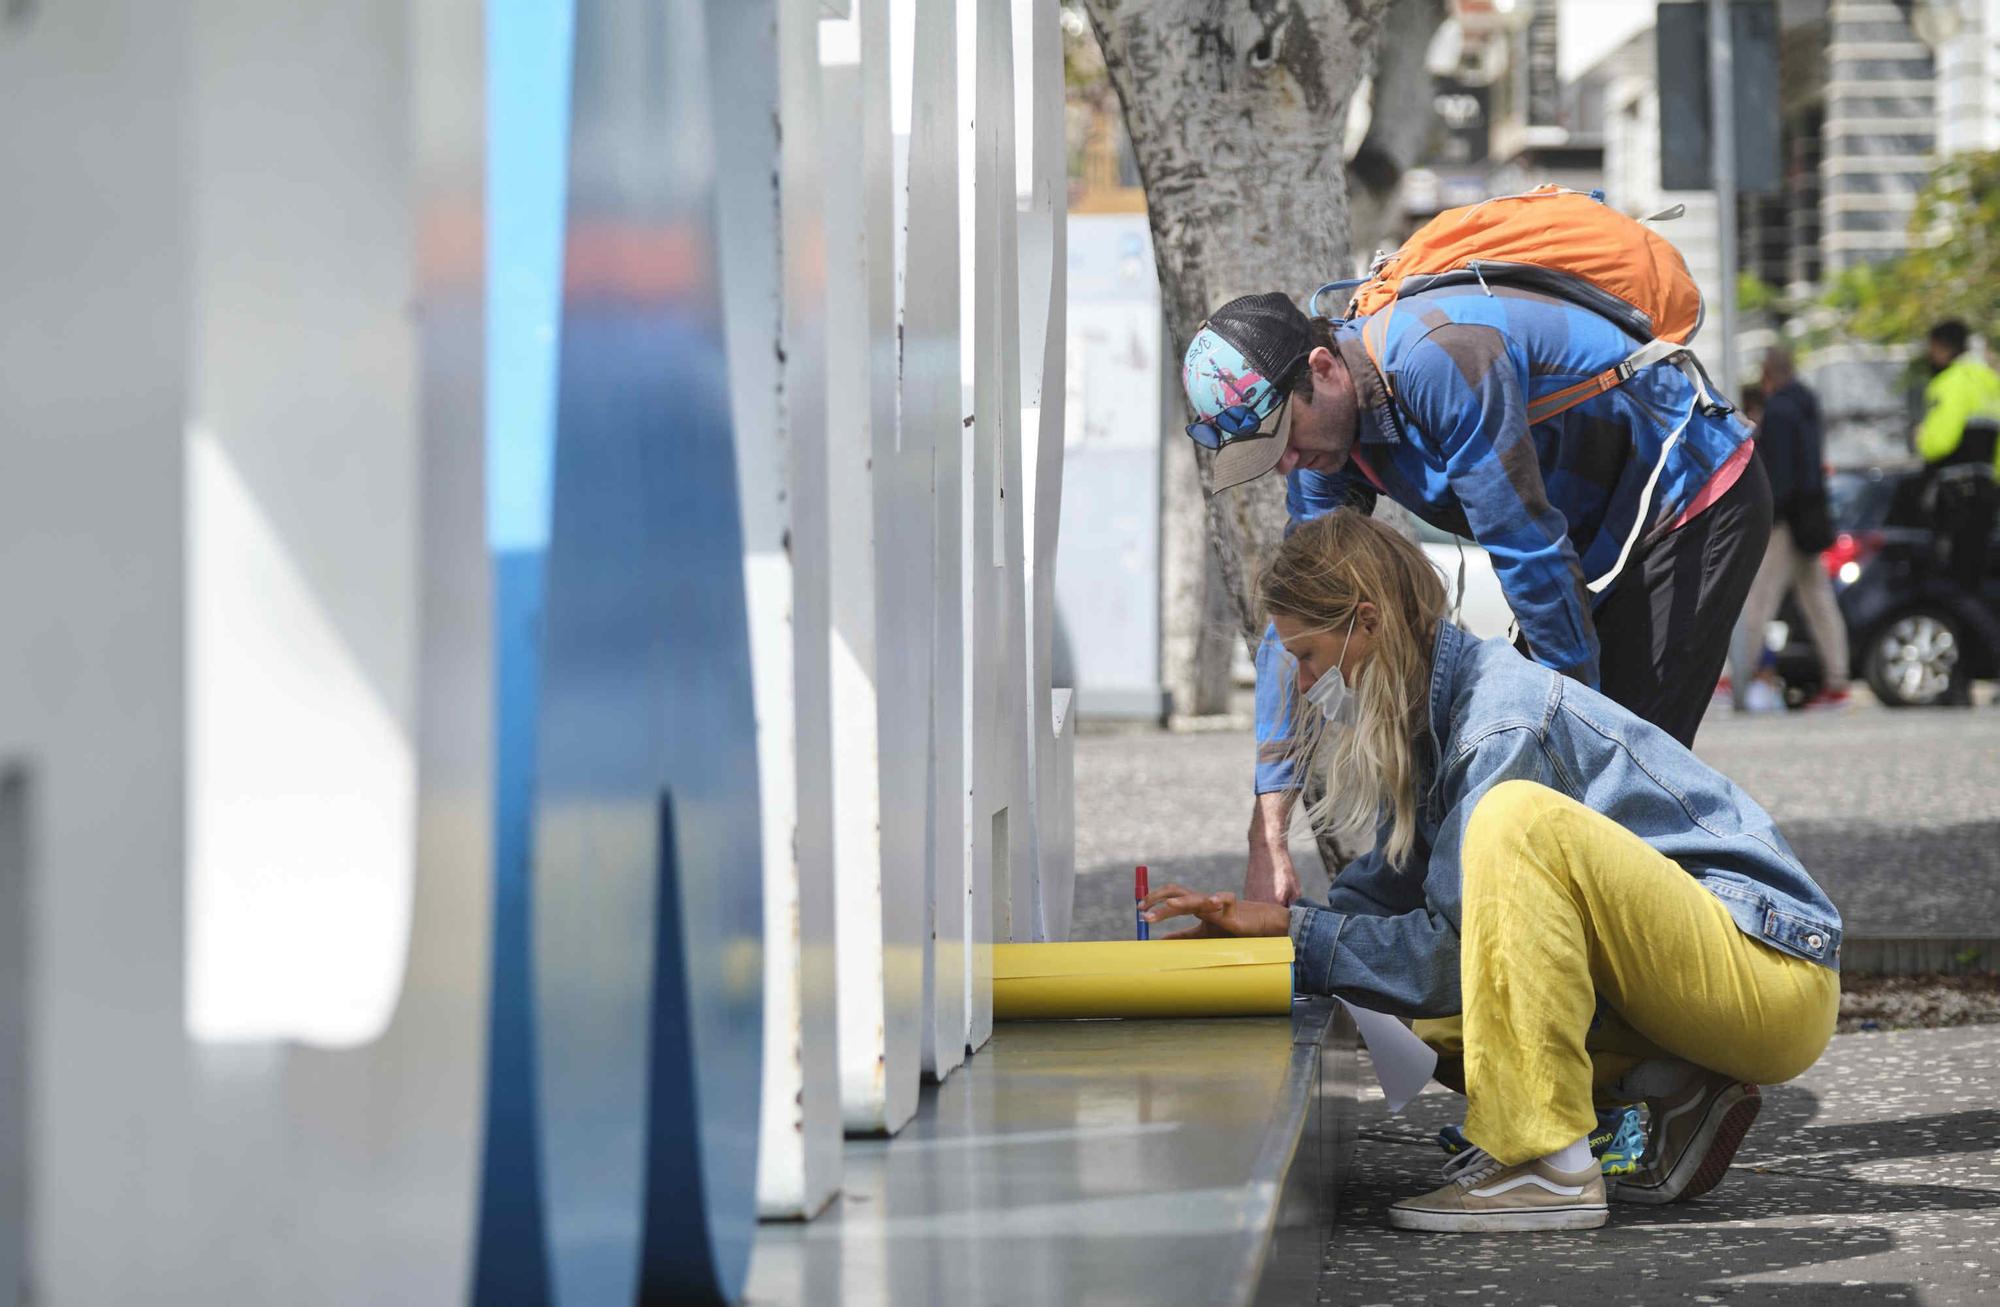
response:
<path id="1" fill-rule="evenodd" d="M 700 8 L 576 10 L 532 917 L 562 1303 L 732 1301 L 756 1221 L 756 717 Z"/>

